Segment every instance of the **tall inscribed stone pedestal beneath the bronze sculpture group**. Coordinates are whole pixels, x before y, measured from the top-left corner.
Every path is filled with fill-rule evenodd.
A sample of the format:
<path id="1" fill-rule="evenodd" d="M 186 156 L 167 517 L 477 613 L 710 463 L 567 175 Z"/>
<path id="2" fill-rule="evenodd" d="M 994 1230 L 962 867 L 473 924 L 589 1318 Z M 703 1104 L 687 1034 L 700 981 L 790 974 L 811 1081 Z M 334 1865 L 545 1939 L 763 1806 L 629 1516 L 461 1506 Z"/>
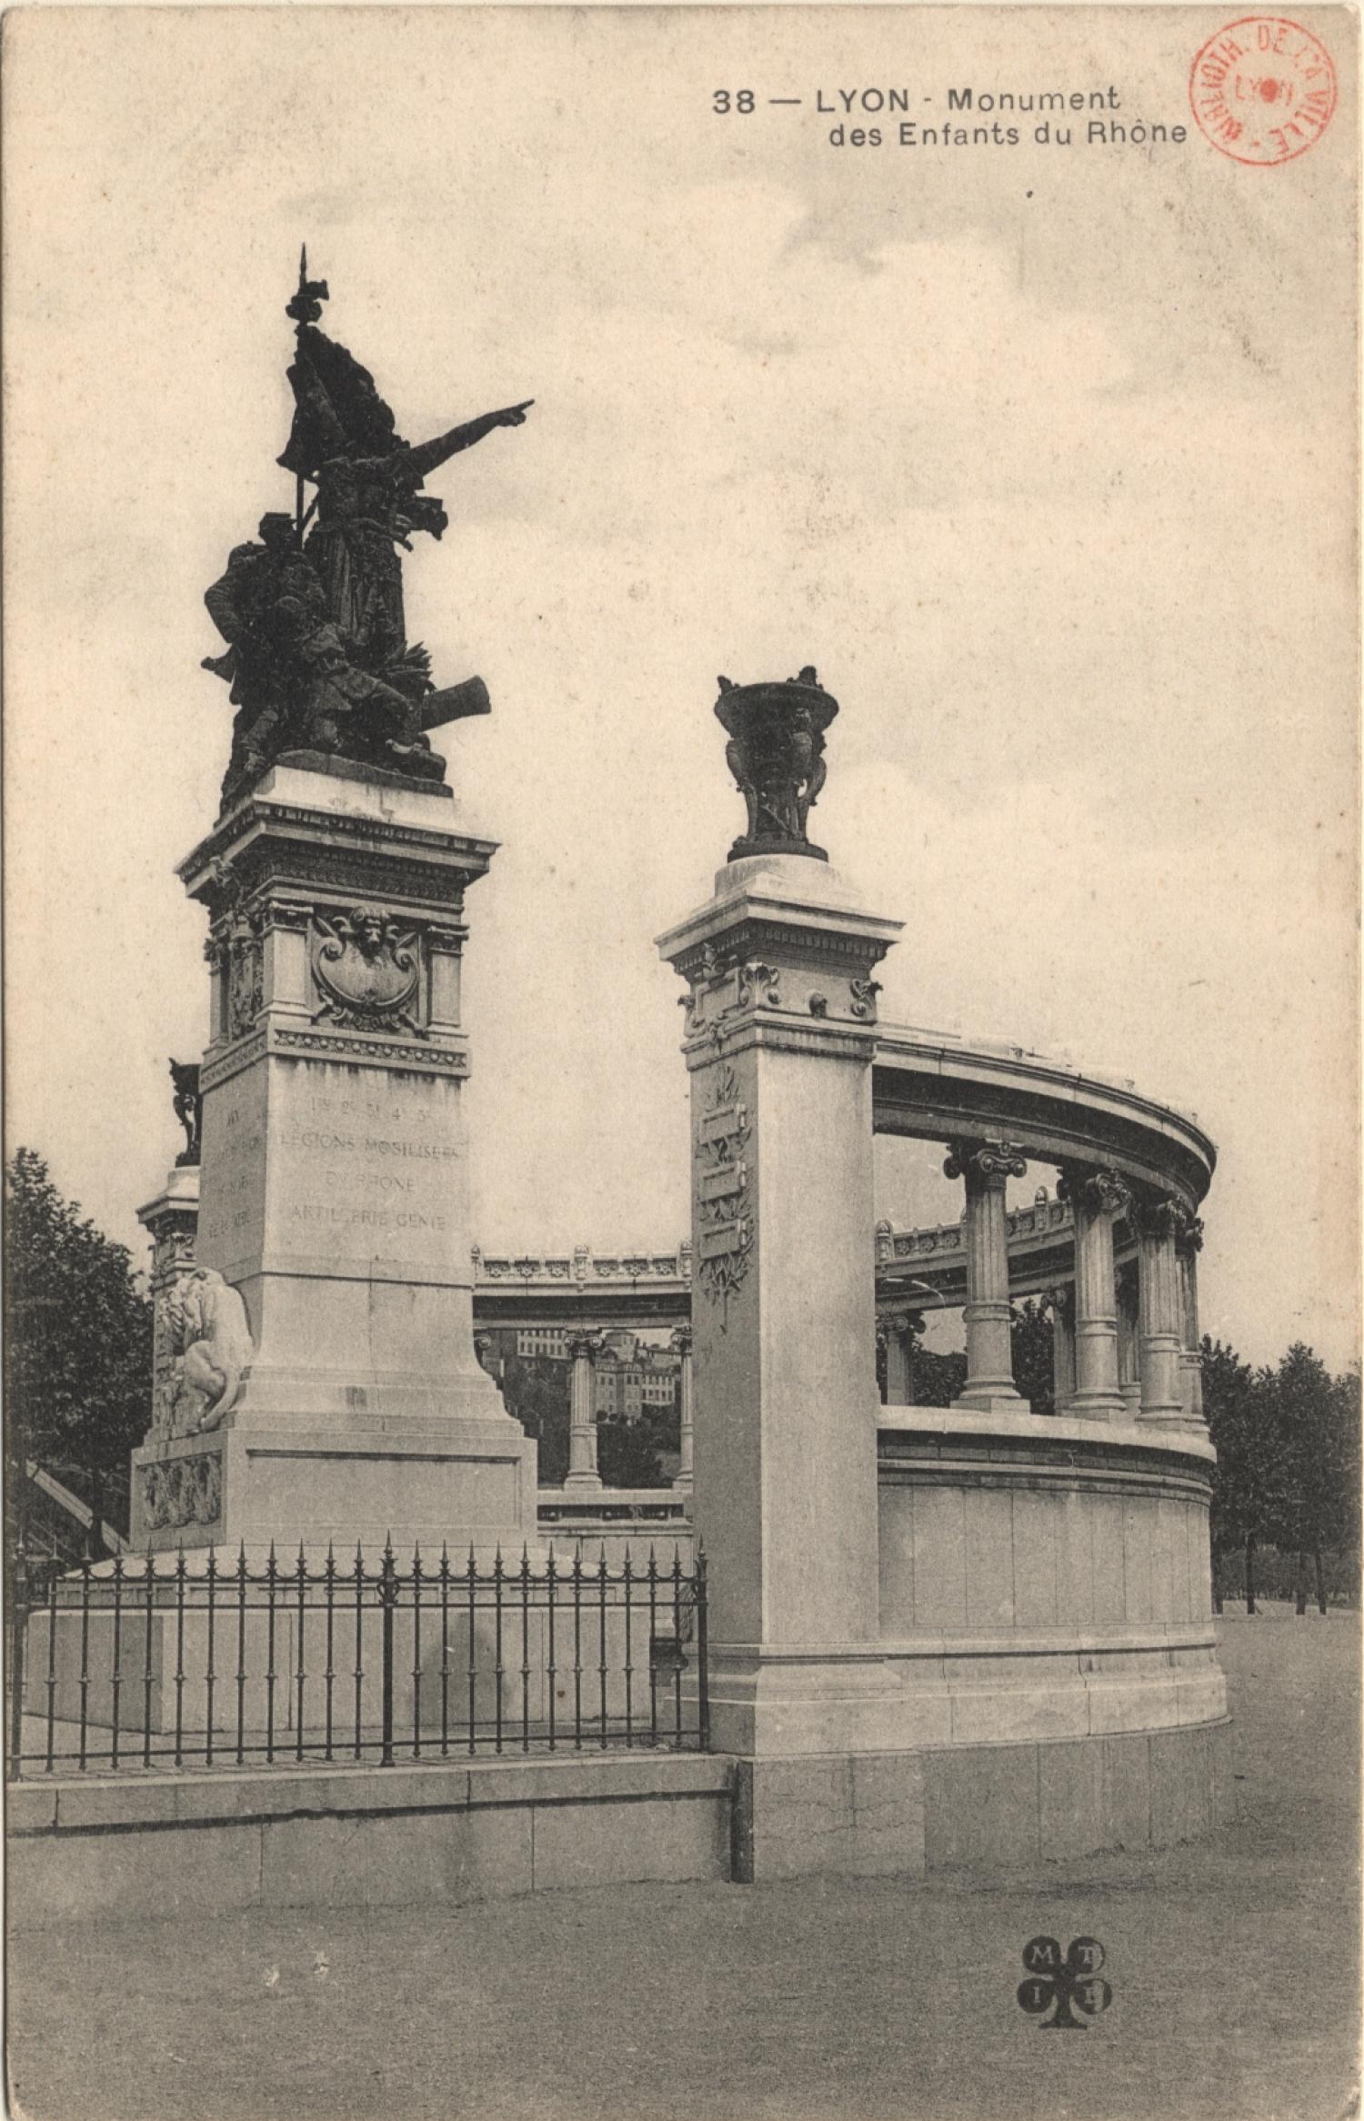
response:
<path id="1" fill-rule="evenodd" d="M 492 853 L 443 789 L 276 766 L 180 867 L 208 1326 L 134 1453 L 134 1544 L 535 1538 L 535 1444 L 473 1351 L 460 948 Z"/>

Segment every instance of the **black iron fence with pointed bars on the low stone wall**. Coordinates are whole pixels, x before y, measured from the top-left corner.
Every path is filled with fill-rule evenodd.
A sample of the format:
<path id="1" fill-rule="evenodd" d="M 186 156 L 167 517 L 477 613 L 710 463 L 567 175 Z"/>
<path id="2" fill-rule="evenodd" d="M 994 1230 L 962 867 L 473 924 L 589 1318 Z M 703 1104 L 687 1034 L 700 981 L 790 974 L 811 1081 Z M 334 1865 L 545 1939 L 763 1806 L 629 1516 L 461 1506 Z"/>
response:
<path id="1" fill-rule="evenodd" d="M 706 1561 L 547 1557 L 399 1567 L 246 1548 L 8 1593 L 8 1773 L 706 1750 Z"/>

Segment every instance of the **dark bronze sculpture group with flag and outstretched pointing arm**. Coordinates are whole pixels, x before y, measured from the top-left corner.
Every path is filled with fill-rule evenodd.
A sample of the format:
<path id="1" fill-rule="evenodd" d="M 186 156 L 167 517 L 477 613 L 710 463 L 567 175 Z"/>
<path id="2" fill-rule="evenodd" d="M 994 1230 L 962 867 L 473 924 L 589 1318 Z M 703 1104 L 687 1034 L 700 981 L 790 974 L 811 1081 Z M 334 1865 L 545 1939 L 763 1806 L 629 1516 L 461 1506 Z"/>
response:
<path id="1" fill-rule="evenodd" d="M 445 761 L 426 730 L 488 713 L 482 679 L 437 687 L 426 649 L 407 641 L 399 547 L 412 551 L 414 532 L 439 539 L 448 526 L 441 503 L 422 492 L 426 473 L 492 428 L 520 426 L 532 401 L 412 445 L 373 375 L 318 331 L 325 299 L 303 255 L 286 305 L 297 325 L 295 416 L 280 456 L 295 473 L 295 513 L 263 515 L 259 541 L 233 547 L 204 598 L 227 641 L 204 668 L 231 685 L 238 708 L 225 806 L 286 753 L 441 783 Z"/>

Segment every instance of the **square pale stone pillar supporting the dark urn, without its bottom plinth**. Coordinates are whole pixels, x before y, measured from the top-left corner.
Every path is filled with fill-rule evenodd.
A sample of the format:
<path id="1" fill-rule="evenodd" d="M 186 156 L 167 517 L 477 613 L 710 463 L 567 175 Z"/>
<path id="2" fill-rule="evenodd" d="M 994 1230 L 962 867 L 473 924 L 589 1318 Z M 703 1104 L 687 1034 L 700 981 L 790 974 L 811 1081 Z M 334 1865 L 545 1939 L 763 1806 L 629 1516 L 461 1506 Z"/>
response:
<path id="1" fill-rule="evenodd" d="M 749 1758 L 895 1746 L 876 1646 L 874 965 L 899 923 L 747 857 L 660 937 L 689 982 L 696 1502 L 711 1729 Z"/>

